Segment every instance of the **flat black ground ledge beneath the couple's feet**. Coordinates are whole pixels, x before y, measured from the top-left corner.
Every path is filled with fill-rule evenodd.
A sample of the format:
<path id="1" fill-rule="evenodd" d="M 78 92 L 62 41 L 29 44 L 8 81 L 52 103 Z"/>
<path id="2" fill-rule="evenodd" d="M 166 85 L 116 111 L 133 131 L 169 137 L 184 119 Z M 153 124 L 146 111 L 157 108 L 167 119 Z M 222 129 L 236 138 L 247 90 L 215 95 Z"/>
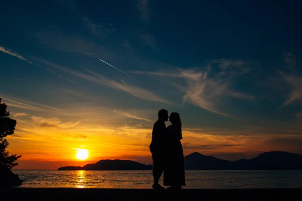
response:
<path id="1" fill-rule="evenodd" d="M 302 188 L 153 189 L 115 188 L 0 188 L 3 200 L 302 200 Z"/>

